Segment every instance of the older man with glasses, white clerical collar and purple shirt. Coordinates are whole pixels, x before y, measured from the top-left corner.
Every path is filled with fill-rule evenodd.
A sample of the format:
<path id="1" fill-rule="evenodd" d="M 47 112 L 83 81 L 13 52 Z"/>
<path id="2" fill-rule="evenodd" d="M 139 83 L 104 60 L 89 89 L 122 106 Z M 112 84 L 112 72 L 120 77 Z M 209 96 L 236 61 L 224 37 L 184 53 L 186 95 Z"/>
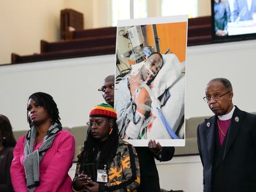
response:
<path id="1" fill-rule="evenodd" d="M 203 191 L 256 191 L 256 115 L 233 105 L 226 78 L 207 84 L 203 98 L 215 114 L 198 125 Z"/>

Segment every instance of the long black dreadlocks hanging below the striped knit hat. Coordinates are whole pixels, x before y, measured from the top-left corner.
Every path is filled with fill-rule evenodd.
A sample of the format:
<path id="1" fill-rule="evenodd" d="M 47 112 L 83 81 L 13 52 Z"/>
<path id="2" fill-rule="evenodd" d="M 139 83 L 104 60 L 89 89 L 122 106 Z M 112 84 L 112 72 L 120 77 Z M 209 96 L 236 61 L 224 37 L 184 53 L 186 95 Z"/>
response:
<path id="1" fill-rule="evenodd" d="M 113 130 L 111 131 L 108 139 L 105 141 L 100 153 L 100 157 L 98 159 L 99 169 L 103 169 L 104 165 L 110 165 L 114 159 L 114 156 L 116 156 L 116 151 L 119 143 L 119 134 L 118 134 L 118 127 L 116 124 L 116 119 L 113 119 L 113 121 L 114 121 Z M 96 150 L 98 146 L 99 146 L 99 141 L 93 138 L 92 133 L 89 130 L 87 140 L 85 140 L 84 147 L 82 148 L 82 152 L 80 152 L 79 156 L 77 156 L 78 157 L 77 163 L 78 164 L 94 163 L 95 157 L 98 154 L 98 151 Z"/>

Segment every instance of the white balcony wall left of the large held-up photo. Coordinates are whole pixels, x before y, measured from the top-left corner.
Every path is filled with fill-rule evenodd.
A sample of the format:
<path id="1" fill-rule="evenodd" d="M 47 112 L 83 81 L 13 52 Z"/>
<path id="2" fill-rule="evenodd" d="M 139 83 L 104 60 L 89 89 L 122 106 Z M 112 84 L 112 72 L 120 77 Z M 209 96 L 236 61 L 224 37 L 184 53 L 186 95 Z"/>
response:
<path id="1" fill-rule="evenodd" d="M 43 91 L 58 104 L 62 125 L 85 125 L 90 109 L 103 102 L 98 88 L 114 74 L 114 55 L 0 66 L 0 114 L 14 130 L 28 129 L 28 96 Z"/>

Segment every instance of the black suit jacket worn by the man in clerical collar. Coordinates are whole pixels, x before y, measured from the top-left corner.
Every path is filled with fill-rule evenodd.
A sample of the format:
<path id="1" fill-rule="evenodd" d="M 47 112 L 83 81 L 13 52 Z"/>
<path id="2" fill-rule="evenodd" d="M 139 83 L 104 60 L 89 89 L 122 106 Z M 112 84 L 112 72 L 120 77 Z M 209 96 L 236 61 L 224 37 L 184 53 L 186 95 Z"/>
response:
<path id="1" fill-rule="evenodd" d="M 203 191 L 256 191 L 256 115 L 236 107 L 221 157 L 216 157 L 217 119 L 205 119 L 197 128 Z"/>

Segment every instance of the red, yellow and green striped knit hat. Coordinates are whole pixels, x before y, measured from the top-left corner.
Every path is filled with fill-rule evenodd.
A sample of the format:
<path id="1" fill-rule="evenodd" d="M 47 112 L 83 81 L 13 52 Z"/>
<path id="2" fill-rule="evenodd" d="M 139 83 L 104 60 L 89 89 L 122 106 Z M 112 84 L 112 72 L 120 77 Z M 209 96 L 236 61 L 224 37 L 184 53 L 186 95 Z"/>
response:
<path id="1" fill-rule="evenodd" d="M 117 119 L 117 114 L 112 106 L 102 103 L 93 107 L 92 111 L 89 114 L 89 117 L 108 117 Z"/>

